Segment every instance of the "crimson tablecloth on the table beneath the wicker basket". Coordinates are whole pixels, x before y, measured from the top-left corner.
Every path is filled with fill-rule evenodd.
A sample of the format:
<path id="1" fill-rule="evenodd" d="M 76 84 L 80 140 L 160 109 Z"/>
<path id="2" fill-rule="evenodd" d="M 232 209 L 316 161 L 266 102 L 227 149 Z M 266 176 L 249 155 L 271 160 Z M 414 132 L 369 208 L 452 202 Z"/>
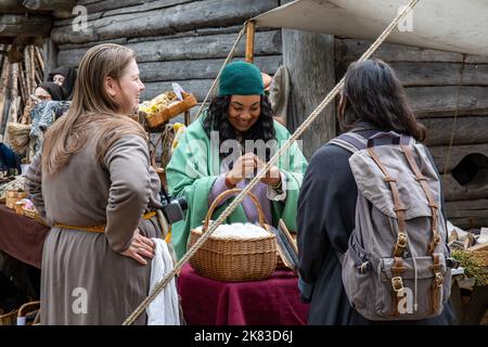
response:
<path id="1" fill-rule="evenodd" d="M 178 292 L 189 325 L 301 325 L 307 323 L 308 305 L 299 300 L 297 282 L 284 270 L 265 281 L 219 282 L 185 265 Z"/>

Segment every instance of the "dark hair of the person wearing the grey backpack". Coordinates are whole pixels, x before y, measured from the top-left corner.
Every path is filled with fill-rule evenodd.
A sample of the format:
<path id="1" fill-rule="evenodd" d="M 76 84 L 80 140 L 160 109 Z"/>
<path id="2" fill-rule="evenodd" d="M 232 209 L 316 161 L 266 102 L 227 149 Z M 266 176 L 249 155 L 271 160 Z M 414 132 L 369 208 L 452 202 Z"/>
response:
<path id="1" fill-rule="evenodd" d="M 394 69 L 377 59 L 352 63 L 347 69 L 338 120 L 343 130 L 368 123 L 419 141 L 426 138 L 426 130 L 415 119 Z"/>

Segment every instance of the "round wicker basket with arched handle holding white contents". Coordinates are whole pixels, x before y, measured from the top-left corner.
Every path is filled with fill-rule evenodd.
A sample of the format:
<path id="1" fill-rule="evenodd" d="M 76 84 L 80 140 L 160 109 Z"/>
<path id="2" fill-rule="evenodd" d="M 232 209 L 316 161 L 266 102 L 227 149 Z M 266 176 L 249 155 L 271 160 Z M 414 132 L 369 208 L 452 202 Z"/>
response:
<path id="1" fill-rule="evenodd" d="M 208 230 L 210 217 L 217 206 L 228 196 L 239 192 L 241 192 L 240 189 L 233 189 L 217 196 L 208 209 L 202 231 L 191 231 L 190 246 Z M 248 196 L 257 207 L 259 224 L 267 229 L 261 206 L 252 193 L 248 193 Z M 218 281 L 257 281 L 265 280 L 273 273 L 277 267 L 277 240 L 272 233 L 264 237 L 246 240 L 209 236 L 190 259 L 190 265 L 201 275 Z"/>

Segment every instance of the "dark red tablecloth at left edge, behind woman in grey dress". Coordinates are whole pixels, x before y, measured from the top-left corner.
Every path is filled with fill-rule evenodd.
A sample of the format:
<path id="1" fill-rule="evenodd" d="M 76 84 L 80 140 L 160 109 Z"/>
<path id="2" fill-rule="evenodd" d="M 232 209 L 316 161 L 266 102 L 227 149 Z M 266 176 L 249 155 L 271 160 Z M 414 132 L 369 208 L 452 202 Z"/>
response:
<path id="1" fill-rule="evenodd" d="M 49 228 L 0 204 L 0 250 L 40 269 Z"/>

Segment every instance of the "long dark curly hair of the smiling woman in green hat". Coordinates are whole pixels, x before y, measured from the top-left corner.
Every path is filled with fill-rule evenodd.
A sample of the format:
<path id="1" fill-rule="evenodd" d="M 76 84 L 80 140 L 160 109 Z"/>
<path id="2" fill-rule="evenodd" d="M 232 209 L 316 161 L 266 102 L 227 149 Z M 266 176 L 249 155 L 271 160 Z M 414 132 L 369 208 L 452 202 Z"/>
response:
<path id="1" fill-rule="evenodd" d="M 204 119 L 204 129 L 208 138 L 211 131 L 219 132 L 219 146 L 226 140 L 239 140 L 239 132 L 229 121 L 229 106 L 231 95 L 217 95 L 211 99 L 207 115 Z M 262 140 L 266 142 L 275 140 L 273 125 L 273 111 L 266 95 L 261 95 L 261 112 L 257 121 L 246 131 L 241 133 L 242 141 Z M 220 153 L 220 159 L 223 159 L 226 153 Z M 266 160 L 270 159 L 270 153 L 267 151 Z"/>

